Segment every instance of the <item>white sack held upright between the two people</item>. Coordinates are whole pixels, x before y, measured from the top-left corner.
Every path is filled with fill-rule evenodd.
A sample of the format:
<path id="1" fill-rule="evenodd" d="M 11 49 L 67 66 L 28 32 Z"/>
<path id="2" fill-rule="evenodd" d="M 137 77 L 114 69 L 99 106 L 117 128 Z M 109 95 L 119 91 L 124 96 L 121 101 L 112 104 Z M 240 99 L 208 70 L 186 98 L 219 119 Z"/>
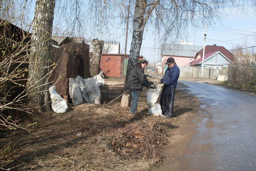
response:
<path id="1" fill-rule="evenodd" d="M 159 84 L 156 85 L 156 89 L 148 88 L 146 94 L 146 100 L 148 105 L 148 114 L 155 116 L 163 116 L 161 106 L 157 103 L 157 99 L 160 95 L 161 87 Z"/>

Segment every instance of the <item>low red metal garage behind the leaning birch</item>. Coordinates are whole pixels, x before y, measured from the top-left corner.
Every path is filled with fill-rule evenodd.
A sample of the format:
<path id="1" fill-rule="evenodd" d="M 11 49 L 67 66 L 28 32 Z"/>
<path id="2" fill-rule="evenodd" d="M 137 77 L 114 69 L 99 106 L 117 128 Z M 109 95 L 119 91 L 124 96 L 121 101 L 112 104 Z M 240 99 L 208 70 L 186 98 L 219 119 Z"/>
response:
<path id="1" fill-rule="evenodd" d="M 128 59 L 126 54 L 101 54 L 100 69 L 108 77 L 125 77 Z"/>

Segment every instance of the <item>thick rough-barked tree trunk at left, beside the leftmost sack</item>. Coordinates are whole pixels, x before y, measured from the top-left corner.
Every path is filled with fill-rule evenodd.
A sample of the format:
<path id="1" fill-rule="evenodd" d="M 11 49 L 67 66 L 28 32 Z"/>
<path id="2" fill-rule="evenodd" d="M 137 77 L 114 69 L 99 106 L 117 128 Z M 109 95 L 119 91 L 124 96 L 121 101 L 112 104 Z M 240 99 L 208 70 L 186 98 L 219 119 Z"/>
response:
<path id="1" fill-rule="evenodd" d="M 28 101 L 38 111 L 49 111 L 49 73 L 53 59 L 51 44 L 55 0 L 37 0 L 29 58 Z"/>

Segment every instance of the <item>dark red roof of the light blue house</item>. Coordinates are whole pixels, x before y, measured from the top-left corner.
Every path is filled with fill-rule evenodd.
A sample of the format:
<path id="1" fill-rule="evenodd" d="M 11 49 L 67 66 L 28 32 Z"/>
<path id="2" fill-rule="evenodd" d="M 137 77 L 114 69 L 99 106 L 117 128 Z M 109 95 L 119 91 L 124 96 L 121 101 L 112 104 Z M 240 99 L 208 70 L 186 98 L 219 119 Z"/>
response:
<path id="1" fill-rule="evenodd" d="M 212 53 L 212 52 L 217 52 L 220 51 L 224 56 L 226 56 L 229 60 L 233 61 L 234 60 L 234 55 L 229 52 L 226 48 L 224 48 L 223 46 L 212 46 L 212 45 L 207 45 L 205 47 L 205 53 L 204 56 L 206 56 L 206 54 Z M 200 53 L 200 56 L 202 58 L 203 56 L 203 49 L 201 49 L 200 51 L 197 52 L 197 54 Z M 206 59 L 206 58 L 205 58 Z M 202 59 L 201 59 L 202 60 Z M 197 60 L 196 60 L 197 61 Z"/>

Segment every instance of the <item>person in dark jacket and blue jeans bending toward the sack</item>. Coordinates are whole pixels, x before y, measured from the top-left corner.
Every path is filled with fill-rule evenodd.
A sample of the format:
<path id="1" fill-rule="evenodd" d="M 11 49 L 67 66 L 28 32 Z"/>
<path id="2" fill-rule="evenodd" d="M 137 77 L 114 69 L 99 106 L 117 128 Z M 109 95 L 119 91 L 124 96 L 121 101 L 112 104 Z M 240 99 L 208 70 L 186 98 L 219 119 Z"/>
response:
<path id="1" fill-rule="evenodd" d="M 139 101 L 139 91 L 142 91 L 142 87 L 150 87 L 152 84 L 146 79 L 143 69 L 146 67 L 148 61 L 146 59 L 141 59 L 136 63 L 128 82 L 127 89 L 132 94 L 132 104 L 131 104 L 131 114 L 137 112 L 137 106 Z M 153 87 L 152 87 L 153 88 Z"/>

